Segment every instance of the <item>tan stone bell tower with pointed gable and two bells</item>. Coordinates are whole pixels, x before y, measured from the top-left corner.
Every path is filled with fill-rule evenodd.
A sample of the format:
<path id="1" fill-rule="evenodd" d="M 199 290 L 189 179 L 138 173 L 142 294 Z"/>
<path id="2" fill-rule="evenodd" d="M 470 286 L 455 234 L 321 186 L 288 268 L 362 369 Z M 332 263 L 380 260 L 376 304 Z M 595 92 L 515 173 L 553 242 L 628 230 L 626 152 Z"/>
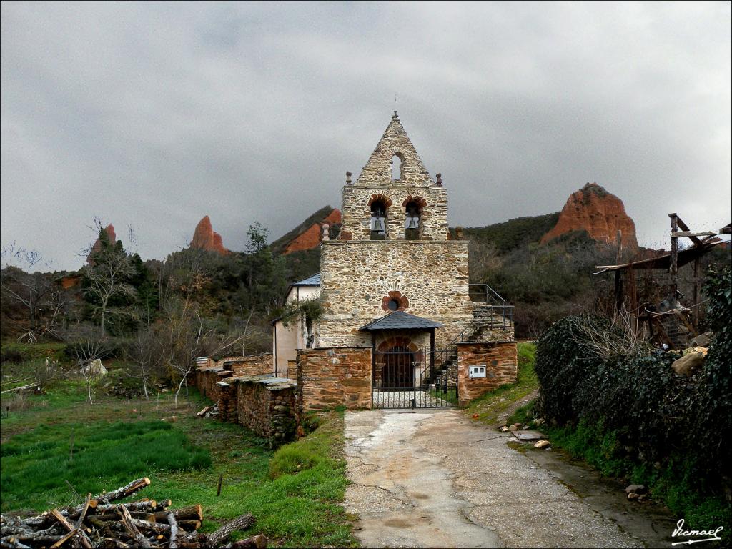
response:
<path id="1" fill-rule="evenodd" d="M 394 311 L 438 323 L 438 345 L 471 324 L 468 242 L 449 238 L 447 189 L 440 174 L 430 178 L 396 111 L 355 183 L 347 173 L 342 198 L 340 237 L 321 248 L 318 347 L 371 346 L 362 327 Z M 428 341 L 414 329 L 409 337 Z"/>

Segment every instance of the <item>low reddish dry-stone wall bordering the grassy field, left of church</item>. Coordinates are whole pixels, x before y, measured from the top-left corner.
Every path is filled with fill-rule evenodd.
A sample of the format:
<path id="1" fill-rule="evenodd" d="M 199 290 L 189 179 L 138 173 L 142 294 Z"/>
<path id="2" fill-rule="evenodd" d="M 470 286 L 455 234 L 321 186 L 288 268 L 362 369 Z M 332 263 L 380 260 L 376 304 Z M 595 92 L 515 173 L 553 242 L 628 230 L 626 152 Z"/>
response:
<path id="1" fill-rule="evenodd" d="M 233 376 L 231 370 L 201 367 L 195 384 L 215 400 L 219 418 L 238 423 L 266 438 L 270 447 L 291 441 L 296 433 L 295 382 L 272 376 Z"/>

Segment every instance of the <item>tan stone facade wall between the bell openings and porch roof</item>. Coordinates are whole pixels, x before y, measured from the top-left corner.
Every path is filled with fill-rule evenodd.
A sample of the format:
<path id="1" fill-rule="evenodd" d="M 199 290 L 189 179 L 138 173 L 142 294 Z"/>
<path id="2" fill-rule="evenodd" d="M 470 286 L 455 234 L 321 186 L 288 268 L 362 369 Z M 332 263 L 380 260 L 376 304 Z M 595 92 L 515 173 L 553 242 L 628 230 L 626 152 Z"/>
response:
<path id="1" fill-rule="evenodd" d="M 321 348 L 365 347 L 359 328 L 388 313 L 389 292 L 406 298 L 406 313 L 441 322 L 436 344 L 446 346 L 473 320 L 468 296 L 468 242 L 328 241 L 321 247 Z"/>

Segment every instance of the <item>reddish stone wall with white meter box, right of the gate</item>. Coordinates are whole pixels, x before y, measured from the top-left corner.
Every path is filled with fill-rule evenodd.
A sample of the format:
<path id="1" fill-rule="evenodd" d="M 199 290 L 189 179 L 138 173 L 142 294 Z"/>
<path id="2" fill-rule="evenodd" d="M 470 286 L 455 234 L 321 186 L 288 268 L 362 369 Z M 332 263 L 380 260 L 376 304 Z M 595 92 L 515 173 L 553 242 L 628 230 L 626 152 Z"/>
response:
<path id="1" fill-rule="evenodd" d="M 485 366 L 485 378 L 469 378 L 469 366 Z M 515 342 L 458 343 L 458 400 L 466 404 L 497 386 L 514 383 L 518 376 Z"/>

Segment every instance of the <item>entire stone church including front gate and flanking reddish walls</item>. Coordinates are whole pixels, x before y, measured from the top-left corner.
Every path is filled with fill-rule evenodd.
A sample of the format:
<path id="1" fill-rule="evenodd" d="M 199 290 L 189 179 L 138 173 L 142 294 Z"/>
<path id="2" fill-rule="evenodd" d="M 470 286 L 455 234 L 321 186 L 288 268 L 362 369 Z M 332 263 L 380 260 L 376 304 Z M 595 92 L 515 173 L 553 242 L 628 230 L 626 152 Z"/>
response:
<path id="1" fill-rule="evenodd" d="M 324 230 L 320 273 L 287 296 L 321 299 L 324 314 L 275 324 L 275 371 L 297 378 L 302 408 L 462 405 L 515 381 L 512 307 L 468 283 L 447 188 L 396 111 L 356 181 L 346 173 L 341 212 L 340 234 Z"/>

